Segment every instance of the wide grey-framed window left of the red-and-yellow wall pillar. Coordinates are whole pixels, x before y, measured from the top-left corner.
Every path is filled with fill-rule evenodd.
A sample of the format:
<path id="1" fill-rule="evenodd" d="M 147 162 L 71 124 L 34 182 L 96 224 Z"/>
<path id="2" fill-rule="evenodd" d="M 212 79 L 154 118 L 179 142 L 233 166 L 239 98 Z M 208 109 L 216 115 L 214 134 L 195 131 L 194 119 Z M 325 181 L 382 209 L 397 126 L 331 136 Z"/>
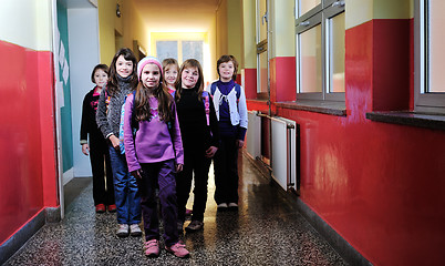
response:
<path id="1" fill-rule="evenodd" d="M 297 0 L 297 100 L 344 101 L 344 1 Z"/>

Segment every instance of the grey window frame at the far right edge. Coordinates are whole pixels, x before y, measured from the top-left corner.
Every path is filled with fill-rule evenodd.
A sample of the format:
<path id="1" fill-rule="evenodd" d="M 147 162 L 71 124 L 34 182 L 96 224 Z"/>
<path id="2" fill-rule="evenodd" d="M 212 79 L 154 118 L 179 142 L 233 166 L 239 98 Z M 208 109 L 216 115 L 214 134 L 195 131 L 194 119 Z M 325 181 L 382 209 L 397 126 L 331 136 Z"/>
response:
<path id="1" fill-rule="evenodd" d="M 414 111 L 425 113 L 445 113 L 445 93 L 427 92 L 428 78 L 428 2 L 414 1 Z"/>

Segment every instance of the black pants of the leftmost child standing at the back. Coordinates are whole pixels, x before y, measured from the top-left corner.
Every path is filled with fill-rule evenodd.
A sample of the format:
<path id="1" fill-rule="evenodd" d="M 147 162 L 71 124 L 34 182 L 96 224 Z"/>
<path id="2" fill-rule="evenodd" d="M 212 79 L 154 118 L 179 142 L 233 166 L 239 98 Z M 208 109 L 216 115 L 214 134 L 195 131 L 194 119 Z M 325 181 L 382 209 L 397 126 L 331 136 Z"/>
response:
<path id="1" fill-rule="evenodd" d="M 94 205 L 114 204 L 113 172 L 111 168 L 108 146 L 90 144 L 90 161 L 93 172 Z M 106 180 L 106 183 L 105 183 Z"/>

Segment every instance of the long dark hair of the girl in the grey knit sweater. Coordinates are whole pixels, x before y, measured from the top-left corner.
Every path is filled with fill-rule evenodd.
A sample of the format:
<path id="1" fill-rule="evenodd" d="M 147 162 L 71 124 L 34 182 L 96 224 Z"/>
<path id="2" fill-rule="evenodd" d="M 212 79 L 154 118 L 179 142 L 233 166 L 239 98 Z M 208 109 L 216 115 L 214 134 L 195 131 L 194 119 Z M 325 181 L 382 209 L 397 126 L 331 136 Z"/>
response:
<path id="1" fill-rule="evenodd" d="M 116 54 L 114 54 L 113 61 L 110 64 L 110 76 L 108 76 L 108 82 L 106 84 L 106 88 L 108 90 L 110 95 L 113 95 L 114 93 L 118 92 L 117 88 L 117 71 L 116 71 L 116 61 L 118 57 L 124 57 L 125 60 L 132 61 L 133 62 L 133 72 L 131 74 L 130 83 L 132 88 L 134 89 L 137 85 L 137 73 L 136 73 L 136 66 L 137 66 L 137 60 L 136 57 L 134 55 L 133 51 L 128 48 L 121 48 Z"/>

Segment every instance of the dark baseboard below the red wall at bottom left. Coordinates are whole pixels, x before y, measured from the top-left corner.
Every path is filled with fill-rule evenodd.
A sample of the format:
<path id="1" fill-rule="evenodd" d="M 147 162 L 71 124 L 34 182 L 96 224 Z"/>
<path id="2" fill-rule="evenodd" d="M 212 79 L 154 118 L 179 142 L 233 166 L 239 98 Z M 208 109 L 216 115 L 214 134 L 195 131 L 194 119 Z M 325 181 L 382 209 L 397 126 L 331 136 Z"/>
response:
<path id="1" fill-rule="evenodd" d="M 42 209 L 0 246 L 0 265 L 19 250 L 44 224 L 45 211 Z"/>

